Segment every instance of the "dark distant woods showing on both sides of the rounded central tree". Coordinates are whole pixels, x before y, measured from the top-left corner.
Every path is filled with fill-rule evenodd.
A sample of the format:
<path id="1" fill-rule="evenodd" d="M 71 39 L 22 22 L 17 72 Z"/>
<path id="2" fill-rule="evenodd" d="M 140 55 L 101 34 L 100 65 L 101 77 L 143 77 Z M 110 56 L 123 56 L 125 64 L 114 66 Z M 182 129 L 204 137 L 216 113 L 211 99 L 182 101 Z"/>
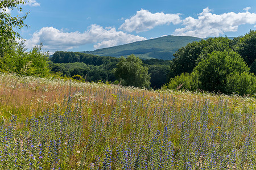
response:
<path id="1" fill-rule="evenodd" d="M 50 66 L 53 72 L 61 72 L 66 76 L 81 75 L 87 81 L 114 82 L 117 78 L 114 69 L 117 67 L 119 58 L 101 57 L 79 52 L 55 52 L 50 58 Z M 70 62 L 70 63 L 68 63 Z M 170 61 L 163 59 L 142 60 L 143 66 L 148 67 L 151 74 L 151 87 L 159 89 L 166 83 Z"/>

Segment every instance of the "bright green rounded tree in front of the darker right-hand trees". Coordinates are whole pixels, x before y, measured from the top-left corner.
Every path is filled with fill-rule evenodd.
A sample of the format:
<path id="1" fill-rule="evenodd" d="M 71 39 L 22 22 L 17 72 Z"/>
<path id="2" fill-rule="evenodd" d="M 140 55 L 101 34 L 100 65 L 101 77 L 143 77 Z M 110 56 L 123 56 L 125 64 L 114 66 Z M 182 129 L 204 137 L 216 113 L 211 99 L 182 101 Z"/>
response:
<path id="1" fill-rule="evenodd" d="M 210 92 L 228 92 L 226 78 L 234 73 L 249 72 L 246 62 L 236 52 L 214 51 L 195 67 L 199 73 L 199 88 Z"/>

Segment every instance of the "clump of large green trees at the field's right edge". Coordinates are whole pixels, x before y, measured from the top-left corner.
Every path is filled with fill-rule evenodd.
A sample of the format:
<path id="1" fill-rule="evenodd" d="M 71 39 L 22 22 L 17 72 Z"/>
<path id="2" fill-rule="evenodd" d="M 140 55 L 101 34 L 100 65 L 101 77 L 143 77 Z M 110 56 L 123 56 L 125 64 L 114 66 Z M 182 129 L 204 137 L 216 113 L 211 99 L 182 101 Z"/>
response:
<path id="1" fill-rule="evenodd" d="M 174 57 L 165 88 L 256 94 L 256 31 L 192 42 Z"/>

